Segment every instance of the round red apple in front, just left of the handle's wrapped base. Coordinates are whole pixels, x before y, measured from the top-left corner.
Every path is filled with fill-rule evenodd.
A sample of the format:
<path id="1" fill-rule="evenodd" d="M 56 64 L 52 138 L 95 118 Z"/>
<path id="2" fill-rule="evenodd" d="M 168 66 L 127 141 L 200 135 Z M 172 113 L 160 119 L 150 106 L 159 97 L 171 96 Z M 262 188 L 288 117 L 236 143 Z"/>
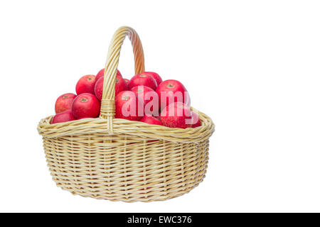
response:
<path id="1" fill-rule="evenodd" d="M 77 119 L 96 118 L 100 114 L 100 101 L 93 94 L 80 94 L 73 100 L 72 111 Z"/>

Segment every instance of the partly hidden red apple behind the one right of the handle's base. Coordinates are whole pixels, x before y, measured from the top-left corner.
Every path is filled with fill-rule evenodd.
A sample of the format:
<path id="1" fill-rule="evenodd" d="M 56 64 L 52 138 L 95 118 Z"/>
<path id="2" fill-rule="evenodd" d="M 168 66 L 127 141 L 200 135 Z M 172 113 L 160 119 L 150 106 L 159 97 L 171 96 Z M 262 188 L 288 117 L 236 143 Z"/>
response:
<path id="1" fill-rule="evenodd" d="M 142 100 L 145 114 L 159 115 L 159 97 L 153 89 L 142 85 L 132 87 L 131 91 Z"/>

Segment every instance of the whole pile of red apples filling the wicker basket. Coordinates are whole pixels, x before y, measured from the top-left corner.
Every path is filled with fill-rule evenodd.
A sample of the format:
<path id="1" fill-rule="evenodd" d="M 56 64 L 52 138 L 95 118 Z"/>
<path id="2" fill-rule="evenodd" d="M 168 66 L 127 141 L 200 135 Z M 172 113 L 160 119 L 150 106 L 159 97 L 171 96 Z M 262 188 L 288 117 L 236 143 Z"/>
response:
<path id="1" fill-rule="evenodd" d="M 81 77 L 75 86 L 77 94 L 59 96 L 51 123 L 99 117 L 104 72 L 102 69 L 96 76 Z M 142 72 L 129 80 L 124 79 L 118 70 L 114 89 L 114 118 L 170 128 L 201 126 L 198 114 L 190 109 L 186 87 L 177 80 L 162 81 L 156 72 Z"/>

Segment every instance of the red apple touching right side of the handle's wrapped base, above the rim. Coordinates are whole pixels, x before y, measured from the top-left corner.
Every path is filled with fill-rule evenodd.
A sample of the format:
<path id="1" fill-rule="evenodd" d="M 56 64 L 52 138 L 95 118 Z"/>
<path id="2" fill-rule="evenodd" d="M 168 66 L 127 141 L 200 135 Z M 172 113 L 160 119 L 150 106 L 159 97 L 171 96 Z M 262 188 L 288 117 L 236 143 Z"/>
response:
<path id="1" fill-rule="evenodd" d="M 114 101 L 116 106 L 115 118 L 139 121 L 144 116 L 144 104 L 134 92 L 120 92 Z"/>

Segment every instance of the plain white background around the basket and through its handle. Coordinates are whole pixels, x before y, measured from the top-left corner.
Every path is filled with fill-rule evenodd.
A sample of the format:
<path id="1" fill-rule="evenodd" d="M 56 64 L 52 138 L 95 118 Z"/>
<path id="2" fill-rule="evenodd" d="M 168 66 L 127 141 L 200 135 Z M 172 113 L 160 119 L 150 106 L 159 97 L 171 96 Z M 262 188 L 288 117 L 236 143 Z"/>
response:
<path id="1" fill-rule="evenodd" d="M 320 211 L 319 1 L 1 1 L 0 211 Z M 36 126 L 132 26 L 146 70 L 216 124 L 204 181 L 169 201 L 55 186 Z M 129 41 L 119 70 L 133 76 Z"/>

